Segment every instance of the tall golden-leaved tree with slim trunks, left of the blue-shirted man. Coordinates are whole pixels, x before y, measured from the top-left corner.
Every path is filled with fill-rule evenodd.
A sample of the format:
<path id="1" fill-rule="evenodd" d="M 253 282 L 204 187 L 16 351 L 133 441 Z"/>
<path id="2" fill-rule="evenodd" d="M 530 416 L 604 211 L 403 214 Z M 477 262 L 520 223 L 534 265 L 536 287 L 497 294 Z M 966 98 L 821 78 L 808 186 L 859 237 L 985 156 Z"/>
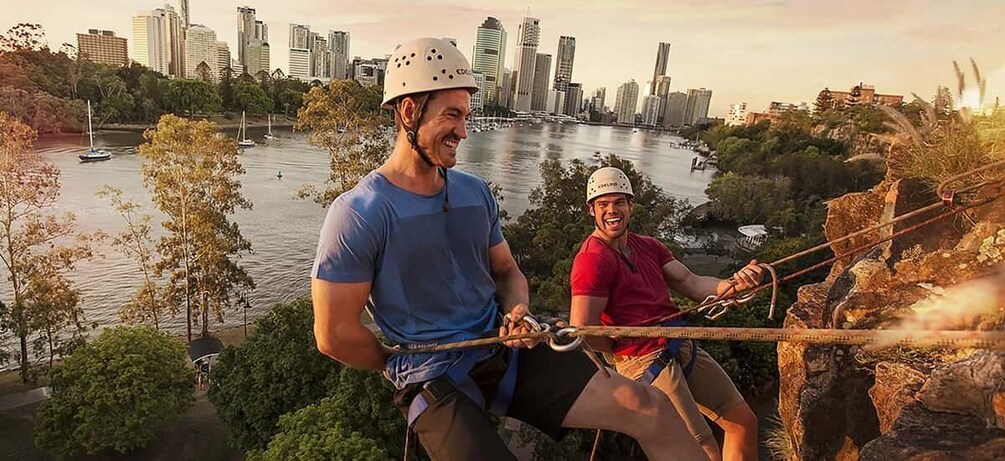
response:
<path id="1" fill-rule="evenodd" d="M 215 124 L 164 116 L 157 129 L 144 134 L 140 146 L 143 182 L 154 204 L 167 215 L 158 250 L 157 275 L 170 274 L 169 299 L 186 306 L 188 337 L 192 338 L 193 298 L 202 317 L 202 334 L 209 334 L 209 313 L 223 320 L 223 307 L 241 287 L 254 282 L 236 259 L 251 251 L 229 215 L 251 209 L 241 195 L 233 140 L 218 136 Z"/>

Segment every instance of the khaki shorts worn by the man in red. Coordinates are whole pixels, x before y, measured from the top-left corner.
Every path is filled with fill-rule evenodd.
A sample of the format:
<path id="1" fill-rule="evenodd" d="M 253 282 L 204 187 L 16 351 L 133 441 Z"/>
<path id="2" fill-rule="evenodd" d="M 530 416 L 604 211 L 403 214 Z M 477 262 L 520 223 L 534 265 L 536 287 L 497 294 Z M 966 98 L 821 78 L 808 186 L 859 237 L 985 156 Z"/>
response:
<path id="1" fill-rule="evenodd" d="M 683 341 L 680 344 L 680 360 L 684 364 L 690 360 L 691 343 Z M 687 431 L 700 444 L 712 437 L 712 428 L 702 415 L 715 422 L 742 404 L 744 398 L 712 356 L 701 348 L 695 349 L 697 356 L 694 358 L 694 368 L 686 380 L 680 364 L 673 361 L 656 377 L 652 386 L 670 398 L 687 425 Z M 638 380 L 659 353 L 660 351 L 655 351 L 639 357 L 614 356 L 614 368 L 621 376 Z"/>

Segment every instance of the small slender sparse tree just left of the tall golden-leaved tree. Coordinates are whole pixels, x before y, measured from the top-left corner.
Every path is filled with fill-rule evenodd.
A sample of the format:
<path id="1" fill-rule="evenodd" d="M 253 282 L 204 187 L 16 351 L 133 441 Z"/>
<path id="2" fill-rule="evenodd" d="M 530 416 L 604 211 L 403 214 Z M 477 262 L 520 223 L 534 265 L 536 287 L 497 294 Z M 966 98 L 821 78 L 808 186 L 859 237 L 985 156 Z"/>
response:
<path id="1" fill-rule="evenodd" d="M 160 287 L 155 274 L 154 241 L 150 237 L 150 215 L 140 214 L 140 205 L 123 199 L 123 191 L 105 186 L 97 191 L 97 197 L 109 199 L 112 207 L 126 221 L 126 229 L 112 237 L 112 244 L 124 254 L 136 260 L 137 268 L 143 275 L 140 289 L 129 303 L 119 310 L 123 321 L 136 323 L 151 321 L 154 329 L 161 329 L 161 318 L 165 313 L 178 313 L 178 307 L 167 303 L 160 295 Z"/>

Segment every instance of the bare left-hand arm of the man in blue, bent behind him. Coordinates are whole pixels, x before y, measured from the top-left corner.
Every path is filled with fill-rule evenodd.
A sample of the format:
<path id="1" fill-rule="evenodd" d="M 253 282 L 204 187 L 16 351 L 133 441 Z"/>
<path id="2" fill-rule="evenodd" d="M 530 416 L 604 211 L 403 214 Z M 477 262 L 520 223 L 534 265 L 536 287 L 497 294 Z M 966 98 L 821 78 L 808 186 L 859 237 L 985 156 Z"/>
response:
<path id="1" fill-rule="evenodd" d="M 315 340 L 318 351 L 350 367 L 383 371 L 391 349 L 381 343 L 360 317 L 371 282 L 336 283 L 314 278 Z"/>

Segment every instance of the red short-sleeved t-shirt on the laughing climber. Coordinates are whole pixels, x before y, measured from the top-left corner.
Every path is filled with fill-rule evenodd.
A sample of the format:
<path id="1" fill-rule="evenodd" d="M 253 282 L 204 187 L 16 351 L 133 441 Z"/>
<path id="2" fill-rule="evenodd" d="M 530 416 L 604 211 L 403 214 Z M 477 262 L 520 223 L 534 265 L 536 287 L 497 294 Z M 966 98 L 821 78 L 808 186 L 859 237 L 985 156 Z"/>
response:
<path id="1" fill-rule="evenodd" d="M 572 264 L 572 295 L 607 298 L 600 314 L 605 325 L 638 326 L 679 310 L 670 299 L 663 279 L 663 265 L 673 253 L 659 240 L 628 233 L 632 272 L 617 250 L 590 236 L 580 246 Z M 620 338 L 614 347 L 618 356 L 643 356 L 662 349 L 664 338 Z"/>

